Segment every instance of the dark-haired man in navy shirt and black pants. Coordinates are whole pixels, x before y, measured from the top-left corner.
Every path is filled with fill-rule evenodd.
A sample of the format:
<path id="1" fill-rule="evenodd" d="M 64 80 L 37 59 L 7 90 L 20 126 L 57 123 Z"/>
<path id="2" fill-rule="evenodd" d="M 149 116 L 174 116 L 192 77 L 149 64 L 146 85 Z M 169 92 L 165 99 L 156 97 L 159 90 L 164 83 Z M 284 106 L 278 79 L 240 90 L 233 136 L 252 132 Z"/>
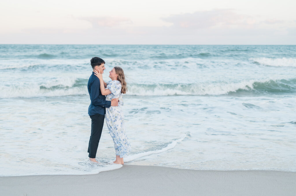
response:
<path id="1" fill-rule="evenodd" d="M 93 57 L 91 59 L 91 67 L 93 68 L 93 73 L 89 77 L 89 82 L 87 83 L 87 89 L 89 90 L 89 97 L 91 99 L 88 112 L 89 117 L 91 118 L 91 136 L 87 152 L 89 153 L 89 160 L 97 162 L 96 151 L 98 150 L 104 125 L 105 108 L 118 106 L 118 99 L 106 101 L 105 96 L 102 95 L 100 90 L 100 80 L 94 75 L 94 71 L 99 72 L 100 70 L 101 73 L 104 73 L 104 69 L 106 69 L 105 61 L 99 57 Z"/>

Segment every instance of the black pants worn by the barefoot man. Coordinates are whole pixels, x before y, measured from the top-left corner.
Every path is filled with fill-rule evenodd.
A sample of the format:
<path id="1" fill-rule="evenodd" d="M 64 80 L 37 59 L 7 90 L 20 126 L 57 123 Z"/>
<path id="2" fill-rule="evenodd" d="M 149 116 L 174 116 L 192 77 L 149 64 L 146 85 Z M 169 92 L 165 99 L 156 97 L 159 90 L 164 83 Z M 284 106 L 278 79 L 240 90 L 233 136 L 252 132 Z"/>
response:
<path id="1" fill-rule="evenodd" d="M 89 158 L 96 158 L 99 141 L 102 135 L 105 115 L 95 114 L 89 116 L 91 118 L 91 137 L 89 138 Z"/>

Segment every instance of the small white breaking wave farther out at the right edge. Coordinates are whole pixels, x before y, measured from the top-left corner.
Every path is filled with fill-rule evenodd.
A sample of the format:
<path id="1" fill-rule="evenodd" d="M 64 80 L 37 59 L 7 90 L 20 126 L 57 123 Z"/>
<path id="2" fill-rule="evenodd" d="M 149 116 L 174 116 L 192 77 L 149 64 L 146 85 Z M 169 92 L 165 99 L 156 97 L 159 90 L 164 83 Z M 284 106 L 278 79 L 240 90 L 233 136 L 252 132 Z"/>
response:
<path id="1" fill-rule="evenodd" d="M 296 67 L 296 58 L 252 58 L 254 62 L 275 67 Z"/>

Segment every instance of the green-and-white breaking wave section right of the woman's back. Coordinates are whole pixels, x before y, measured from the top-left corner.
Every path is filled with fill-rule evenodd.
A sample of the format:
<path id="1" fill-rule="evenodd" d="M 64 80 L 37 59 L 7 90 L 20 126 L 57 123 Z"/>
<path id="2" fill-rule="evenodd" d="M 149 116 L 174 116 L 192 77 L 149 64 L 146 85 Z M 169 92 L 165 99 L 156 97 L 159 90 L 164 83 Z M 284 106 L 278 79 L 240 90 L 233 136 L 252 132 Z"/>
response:
<path id="1" fill-rule="evenodd" d="M 192 84 L 133 84 L 127 95 L 235 95 L 234 93 L 295 93 L 296 79 L 291 80 L 249 80 L 239 83 L 192 83 Z"/>

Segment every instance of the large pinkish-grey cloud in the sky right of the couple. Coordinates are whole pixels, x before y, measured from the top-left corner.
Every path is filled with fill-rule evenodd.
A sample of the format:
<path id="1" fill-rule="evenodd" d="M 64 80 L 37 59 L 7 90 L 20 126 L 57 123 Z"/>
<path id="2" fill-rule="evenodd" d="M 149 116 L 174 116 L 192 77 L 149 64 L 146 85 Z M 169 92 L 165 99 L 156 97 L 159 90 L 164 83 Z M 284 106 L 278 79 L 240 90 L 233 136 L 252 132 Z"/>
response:
<path id="1" fill-rule="evenodd" d="M 215 9 L 197 11 L 192 14 L 176 14 L 162 18 L 165 22 L 173 23 L 179 28 L 211 28 L 216 26 L 252 25 L 254 19 L 247 15 L 236 14 L 232 9 Z"/>

